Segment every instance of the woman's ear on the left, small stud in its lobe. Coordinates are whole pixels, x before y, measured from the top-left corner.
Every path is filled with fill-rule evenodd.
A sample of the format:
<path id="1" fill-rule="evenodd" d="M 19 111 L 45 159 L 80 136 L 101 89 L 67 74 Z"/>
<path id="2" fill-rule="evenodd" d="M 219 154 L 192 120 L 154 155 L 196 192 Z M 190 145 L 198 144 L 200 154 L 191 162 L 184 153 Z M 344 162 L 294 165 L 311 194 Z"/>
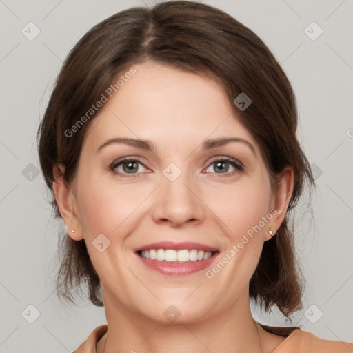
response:
<path id="1" fill-rule="evenodd" d="M 71 239 L 79 241 L 83 239 L 81 223 L 76 215 L 76 198 L 72 187 L 63 179 L 65 165 L 59 163 L 53 167 L 54 183 L 52 189 L 54 192 L 59 212 L 66 225 L 66 231 Z M 72 232 L 74 230 L 74 232 Z"/>

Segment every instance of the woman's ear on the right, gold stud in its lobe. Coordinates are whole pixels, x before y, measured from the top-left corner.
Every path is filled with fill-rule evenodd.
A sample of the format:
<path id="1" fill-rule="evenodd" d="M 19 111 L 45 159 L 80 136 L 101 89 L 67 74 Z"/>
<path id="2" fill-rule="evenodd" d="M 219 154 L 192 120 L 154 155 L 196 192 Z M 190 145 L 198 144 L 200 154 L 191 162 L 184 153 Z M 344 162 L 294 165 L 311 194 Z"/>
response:
<path id="1" fill-rule="evenodd" d="M 285 214 L 288 210 L 290 198 L 292 197 L 294 188 L 294 171 L 289 165 L 283 169 L 279 174 L 279 187 L 272 198 L 271 214 L 273 215 L 271 221 L 268 223 L 268 229 L 274 228 L 275 231 L 279 229 Z M 266 231 L 265 241 L 272 239 L 272 236 Z"/>

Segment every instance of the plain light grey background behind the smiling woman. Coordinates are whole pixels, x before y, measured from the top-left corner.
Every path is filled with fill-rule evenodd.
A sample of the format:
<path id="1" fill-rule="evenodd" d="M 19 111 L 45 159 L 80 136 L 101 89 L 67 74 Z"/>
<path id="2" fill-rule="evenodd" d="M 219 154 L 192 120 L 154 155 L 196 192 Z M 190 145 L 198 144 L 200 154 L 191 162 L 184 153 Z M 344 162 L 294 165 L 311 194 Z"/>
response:
<path id="1" fill-rule="evenodd" d="M 152 0 L 145 3 L 152 5 Z M 225 10 L 258 34 L 292 82 L 299 137 L 316 165 L 318 186 L 316 227 L 304 217 L 296 237 L 308 311 L 296 314 L 293 324 L 323 339 L 353 342 L 353 2 L 203 3 Z M 35 174 L 39 161 L 34 137 L 74 43 L 111 14 L 143 5 L 141 0 L 0 0 L 0 352 L 72 352 L 105 323 L 103 308 L 88 301 L 65 307 L 53 294 L 59 224 L 50 219 L 49 193 L 41 174 Z M 21 33 L 22 28 L 30 32 L 30 21 L 40 30 L 32 41 Z M 323 29 L 316 40 L 305 34 L 312 21 Z M 311 25 L 306 33 L 315 36 L 318 30 Z M 23 318 L 34 317 L 34 310 L 21 315 L 30 304 L 40 312 L 34 323 Z M 254 316 L 269 325 L 291 325 L 278 313 L 261 314 L 256 307 Z"/>

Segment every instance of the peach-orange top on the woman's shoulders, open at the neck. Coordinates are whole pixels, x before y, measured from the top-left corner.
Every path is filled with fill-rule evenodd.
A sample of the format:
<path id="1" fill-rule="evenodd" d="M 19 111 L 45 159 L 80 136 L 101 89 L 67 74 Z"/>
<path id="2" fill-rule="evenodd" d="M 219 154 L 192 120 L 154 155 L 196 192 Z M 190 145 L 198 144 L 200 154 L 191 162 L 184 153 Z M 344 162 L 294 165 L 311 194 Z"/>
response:
<path id="1" fill-rule="evenodd" d="M 259 323 L 259 325 L 261 325 Z M 264 330 L 287 337 L 272 353 L 353 353 L 353 343 L 320 339 L 314 334 L 301 330 L 300 327 L 272 327 L 261 325 Z M 78 348 L 72 353 L 97 353 L 96 345 L 108 326 L 101 325 L 93 330 Z"/>

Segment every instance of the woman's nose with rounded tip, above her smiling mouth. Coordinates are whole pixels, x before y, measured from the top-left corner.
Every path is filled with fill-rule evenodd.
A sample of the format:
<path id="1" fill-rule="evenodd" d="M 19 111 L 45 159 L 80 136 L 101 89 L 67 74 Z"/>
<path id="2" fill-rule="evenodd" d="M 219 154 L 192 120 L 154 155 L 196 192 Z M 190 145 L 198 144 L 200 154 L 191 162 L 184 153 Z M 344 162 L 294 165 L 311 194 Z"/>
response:
<path id="1" fill-rule="evenodd" d="M 156 223 L 179 228 L 184 223 L 196 225 L 203 221 L 205 206 L 202 203 L 201 190 L 195 181 L 192 183 L 187 174 L 181 172 L 174 181 L 161 176 L 161 185 L 157 190 L 152 211 Z"/>

